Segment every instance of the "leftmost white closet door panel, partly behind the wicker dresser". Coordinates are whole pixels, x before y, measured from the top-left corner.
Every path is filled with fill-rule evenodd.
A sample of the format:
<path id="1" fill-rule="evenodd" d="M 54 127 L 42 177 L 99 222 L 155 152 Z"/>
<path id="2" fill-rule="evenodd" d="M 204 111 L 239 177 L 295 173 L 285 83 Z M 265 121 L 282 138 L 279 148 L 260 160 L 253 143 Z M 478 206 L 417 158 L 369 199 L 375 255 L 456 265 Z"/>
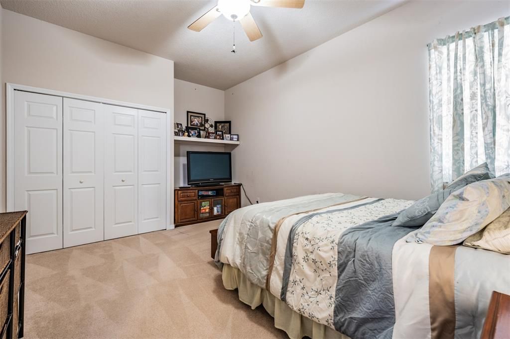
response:
<path id="1" fill-rule="evenodd" d="M 14 92 L 14 210 L 27 253 L 62 248 L 62 97 Z"/>

